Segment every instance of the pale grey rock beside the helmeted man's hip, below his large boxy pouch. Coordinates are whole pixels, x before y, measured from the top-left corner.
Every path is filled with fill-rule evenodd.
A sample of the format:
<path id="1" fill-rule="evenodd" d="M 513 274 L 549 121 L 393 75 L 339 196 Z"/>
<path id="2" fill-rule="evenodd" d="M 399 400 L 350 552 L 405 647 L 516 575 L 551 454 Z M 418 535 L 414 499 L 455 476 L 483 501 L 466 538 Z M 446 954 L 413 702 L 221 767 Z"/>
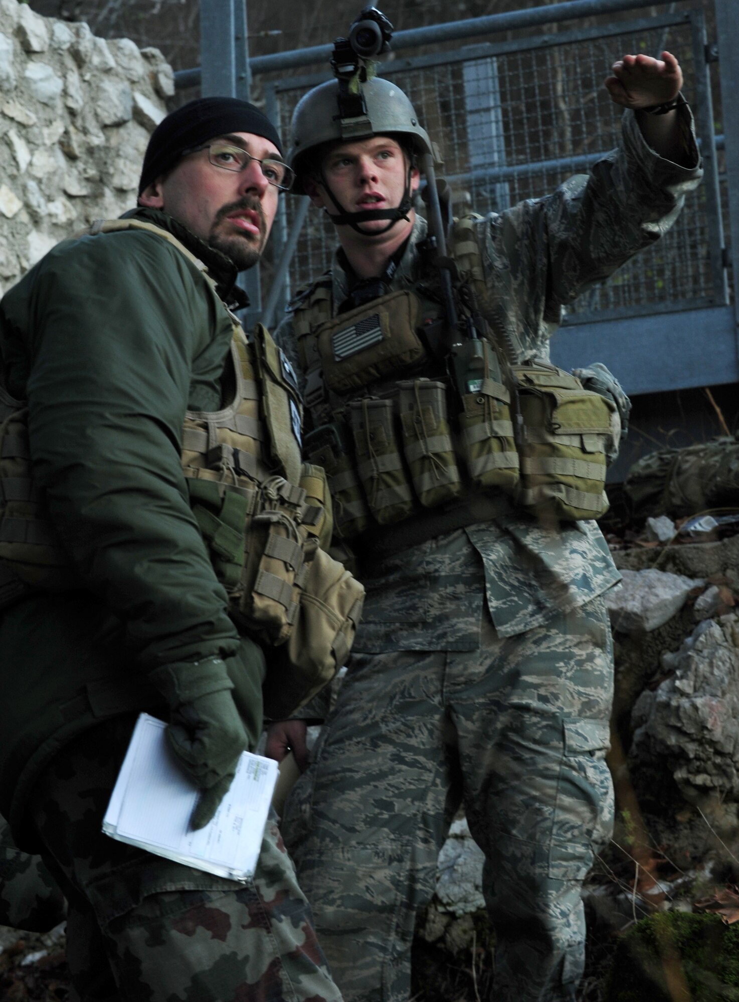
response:
<path id="1" fill-rule="evenodd" d="M 621 586 L 606 593 L 611 625 L 621 633 L 649 633 L 664 625 L 680 611 L 689 592 L 703 584 L 654 567 L 622 573 Z"/>

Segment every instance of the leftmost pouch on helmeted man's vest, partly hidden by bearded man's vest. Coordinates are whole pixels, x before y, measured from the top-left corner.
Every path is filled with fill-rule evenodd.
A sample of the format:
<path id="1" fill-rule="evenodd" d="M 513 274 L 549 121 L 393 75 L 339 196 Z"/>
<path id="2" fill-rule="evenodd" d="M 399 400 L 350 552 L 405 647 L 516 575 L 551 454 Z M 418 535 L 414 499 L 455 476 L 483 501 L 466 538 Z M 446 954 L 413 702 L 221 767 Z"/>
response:
<path id="1" fill-rule="evenodd" d="M 338 423 L 322 425 L 309 432 L 305 452 L 312 463 L 326 471 L 336 535 L 351 539 L 363 532 L 369 525 L 370 515 L 354 470 L 353 451 L 344 426 Z"/>

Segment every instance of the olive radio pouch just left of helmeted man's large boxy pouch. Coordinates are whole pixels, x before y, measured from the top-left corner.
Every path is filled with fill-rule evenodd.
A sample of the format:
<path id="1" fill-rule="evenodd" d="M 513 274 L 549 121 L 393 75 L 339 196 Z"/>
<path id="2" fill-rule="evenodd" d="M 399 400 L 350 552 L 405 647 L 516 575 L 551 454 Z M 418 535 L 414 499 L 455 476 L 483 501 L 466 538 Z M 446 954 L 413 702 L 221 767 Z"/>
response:
<path id="1" fill-rule="evenodd" d="M 453 358 L 462 411 L 460 447 L 473 485 L 512 494 L 518 483 L 518 453 L 510 417 L 510 393 L 500 381 L 500 367 L 486 341 L 468 342 L 469 365 Z"/>

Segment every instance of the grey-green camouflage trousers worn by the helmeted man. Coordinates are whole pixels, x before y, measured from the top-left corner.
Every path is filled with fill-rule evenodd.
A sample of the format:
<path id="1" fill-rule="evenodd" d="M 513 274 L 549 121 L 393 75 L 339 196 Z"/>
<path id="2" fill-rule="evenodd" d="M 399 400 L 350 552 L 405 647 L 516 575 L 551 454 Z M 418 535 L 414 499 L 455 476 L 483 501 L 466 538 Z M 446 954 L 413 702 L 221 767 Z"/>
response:
<path id="1" fill-rule="evenodd" d="M 346 1002 L 405 1002 L 460 804 L 483 850 L 496 1002 L 574 1000 L 583 880 L 613 824 L 602 598 L 465 652 L 355 654 L 283 823 Z"/>

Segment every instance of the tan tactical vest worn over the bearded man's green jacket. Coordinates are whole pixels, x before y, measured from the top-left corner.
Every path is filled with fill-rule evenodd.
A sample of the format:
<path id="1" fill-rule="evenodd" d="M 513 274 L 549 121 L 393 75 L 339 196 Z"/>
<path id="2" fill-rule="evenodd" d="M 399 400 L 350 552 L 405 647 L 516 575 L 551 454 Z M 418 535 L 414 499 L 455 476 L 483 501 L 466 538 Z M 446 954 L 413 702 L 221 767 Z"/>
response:
<path id="1" fill-rule="evenodd" d="M 88 232 L 129 228 L 176 246 L 203 272 L 217 309 L 226 309 L 207 267 L 166 230 L 116 219 Z M 264 327 L 250 344 L 230 316 L 233 395 L 220 411 L 187 412 L 182 472 L 233 617 L 280 648 L 282 670 L 268 672 L 265 697 L 268 714 L 284 716 L 346 660 L 364 589 L 320 549 L 331 539 L 331 499 L 323 470 L 301 459 L 301 402 L 289 363 Z M 0 388 L 0 603 L 29 587 L 79 587 L 33 484 L 23 403 Z"/>

